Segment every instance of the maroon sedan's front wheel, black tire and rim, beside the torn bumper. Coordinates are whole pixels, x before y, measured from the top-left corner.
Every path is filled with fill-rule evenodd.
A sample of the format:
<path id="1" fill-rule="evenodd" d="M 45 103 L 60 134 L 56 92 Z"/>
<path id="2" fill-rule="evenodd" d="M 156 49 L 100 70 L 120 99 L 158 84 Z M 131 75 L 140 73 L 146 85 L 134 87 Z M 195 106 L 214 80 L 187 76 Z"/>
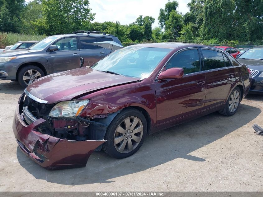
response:
<path id="1" fill-rule="evenodd" d="M 123 109 L 107 128 L 103 150 L 118 159 L 129 157 L 142 146 L 147 133 L 147 121 L 139 110 Z"/>

